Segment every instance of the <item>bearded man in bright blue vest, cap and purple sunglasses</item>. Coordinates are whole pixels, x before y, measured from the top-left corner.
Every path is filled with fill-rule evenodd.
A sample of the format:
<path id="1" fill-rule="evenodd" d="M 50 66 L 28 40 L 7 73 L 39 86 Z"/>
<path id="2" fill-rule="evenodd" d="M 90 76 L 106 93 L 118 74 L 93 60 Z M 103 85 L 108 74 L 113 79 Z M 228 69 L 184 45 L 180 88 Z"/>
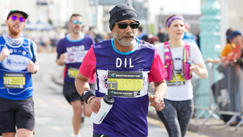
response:
<path id="1" fill-rule="evenodd" d="M 39 70 L 35 43 L 23 37 L 28 14 L 11 10 L 8 31 L 0 36 L 0 134 L 32 137 L 34 103 L 31 74 Z"/>

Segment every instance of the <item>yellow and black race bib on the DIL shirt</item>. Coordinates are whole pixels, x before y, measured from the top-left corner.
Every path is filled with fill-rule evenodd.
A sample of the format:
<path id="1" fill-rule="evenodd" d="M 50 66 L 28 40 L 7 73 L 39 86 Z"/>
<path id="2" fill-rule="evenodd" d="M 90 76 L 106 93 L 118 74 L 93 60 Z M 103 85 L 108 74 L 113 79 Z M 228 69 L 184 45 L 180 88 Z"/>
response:
<path id="1" fill-rule="evenodd" d="M 108 71 L 107 84 L 113 96 L 137 97 L 143 89 L 143 73 Z"/>

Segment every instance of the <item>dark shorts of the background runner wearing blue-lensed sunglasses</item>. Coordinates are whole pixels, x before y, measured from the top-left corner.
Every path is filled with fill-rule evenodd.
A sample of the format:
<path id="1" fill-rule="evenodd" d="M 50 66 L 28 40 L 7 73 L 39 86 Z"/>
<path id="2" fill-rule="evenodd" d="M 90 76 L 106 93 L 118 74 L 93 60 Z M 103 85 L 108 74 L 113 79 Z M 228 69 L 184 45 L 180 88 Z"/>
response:
<path id="1" fill-rule="evenodd" d="M 92 93 L 95 93 L 95 84 L 92 83 L 89 84 L 89 86 Z M 75 84 L 73 82 L 64 82 L 63 95 L 69 103 L 75 100 L 83 101 L 81 96 L 78 94 L 78 91 L 76 90 Z"/>

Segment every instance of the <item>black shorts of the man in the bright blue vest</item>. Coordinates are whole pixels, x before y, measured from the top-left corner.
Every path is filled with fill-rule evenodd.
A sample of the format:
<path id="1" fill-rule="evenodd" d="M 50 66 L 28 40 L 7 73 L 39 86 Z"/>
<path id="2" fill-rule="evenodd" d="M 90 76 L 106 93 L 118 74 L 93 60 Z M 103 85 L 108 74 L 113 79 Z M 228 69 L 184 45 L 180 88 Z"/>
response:
<path id="1" fill-rule="evenodd" d="M 16 132 L 16 128 L 33 131 L 34 125 L 35 115 L 32 97 L 25 100 L 0 98 L 0 134 Z"/>

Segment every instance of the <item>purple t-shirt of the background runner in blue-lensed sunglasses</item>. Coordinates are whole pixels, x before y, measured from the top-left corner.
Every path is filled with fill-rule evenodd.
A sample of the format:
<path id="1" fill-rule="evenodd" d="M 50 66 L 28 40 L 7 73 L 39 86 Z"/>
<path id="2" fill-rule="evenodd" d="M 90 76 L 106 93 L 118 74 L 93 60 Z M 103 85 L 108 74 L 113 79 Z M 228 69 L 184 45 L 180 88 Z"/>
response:
<path id="1" fill-rule="evenodd" d="M 67 54 L 64 82 L 74 82 L 83 58 L 93 44 L 94 40 L 88 35 L 84 35 L 80 40 L 75 41 L 70 40 L 68 35 L 59 40 L 57 44 L 57 58 L 63 53 Z"/>

